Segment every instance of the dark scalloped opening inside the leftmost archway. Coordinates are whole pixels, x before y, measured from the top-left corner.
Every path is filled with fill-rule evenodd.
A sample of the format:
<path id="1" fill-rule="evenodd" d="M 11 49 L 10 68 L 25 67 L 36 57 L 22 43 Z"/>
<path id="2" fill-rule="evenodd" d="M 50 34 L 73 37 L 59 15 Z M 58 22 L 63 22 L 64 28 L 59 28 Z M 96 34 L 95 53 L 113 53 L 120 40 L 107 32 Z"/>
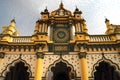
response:
<path id="1" fill-rule="evenodd" d="M 10 71 L 6 73 L 4 80 L 29 80 L 28 67 L 20 61 L 15 66 L 10 67 Z"/>

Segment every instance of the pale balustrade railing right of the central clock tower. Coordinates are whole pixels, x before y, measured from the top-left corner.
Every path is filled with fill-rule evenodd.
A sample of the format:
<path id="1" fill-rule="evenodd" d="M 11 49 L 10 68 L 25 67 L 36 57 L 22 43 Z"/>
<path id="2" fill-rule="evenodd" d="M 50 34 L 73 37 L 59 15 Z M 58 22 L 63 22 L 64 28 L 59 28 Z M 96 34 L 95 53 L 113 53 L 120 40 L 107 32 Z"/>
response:
<path id="1" fill-rule="evenodd" d="M 90 35 L 90 41 L 112 41 L 108 35 Z"/>

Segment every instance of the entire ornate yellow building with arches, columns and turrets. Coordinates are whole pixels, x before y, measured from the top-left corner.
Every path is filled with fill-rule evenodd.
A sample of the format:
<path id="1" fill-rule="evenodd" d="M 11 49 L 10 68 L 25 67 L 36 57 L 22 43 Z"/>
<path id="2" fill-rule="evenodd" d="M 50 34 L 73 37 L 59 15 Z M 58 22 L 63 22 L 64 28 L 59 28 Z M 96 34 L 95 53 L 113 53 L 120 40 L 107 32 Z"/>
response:
<path id="1" fill-rule="evenodd" d="M 0 80 L 120 80 L 120 25 L 106 19 L 105 34 L 90 35 L 85 22 L 63 3 L 41 12 L 32 36 L 13 19 L 0 34 Z"/>

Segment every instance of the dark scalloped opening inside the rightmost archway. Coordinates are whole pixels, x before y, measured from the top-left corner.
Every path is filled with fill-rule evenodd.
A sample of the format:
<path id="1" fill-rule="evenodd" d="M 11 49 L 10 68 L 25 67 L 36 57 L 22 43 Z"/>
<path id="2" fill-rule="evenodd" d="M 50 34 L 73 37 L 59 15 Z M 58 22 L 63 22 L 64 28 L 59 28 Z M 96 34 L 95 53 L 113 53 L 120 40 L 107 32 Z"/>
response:
<path id="1" fill-rule="evenodd" d="M 102 61 L 99 66 L 95 67 L 94 72 L 95 80 L 120 80 L 120 73 L 118 73 L 114 66 Z"/>

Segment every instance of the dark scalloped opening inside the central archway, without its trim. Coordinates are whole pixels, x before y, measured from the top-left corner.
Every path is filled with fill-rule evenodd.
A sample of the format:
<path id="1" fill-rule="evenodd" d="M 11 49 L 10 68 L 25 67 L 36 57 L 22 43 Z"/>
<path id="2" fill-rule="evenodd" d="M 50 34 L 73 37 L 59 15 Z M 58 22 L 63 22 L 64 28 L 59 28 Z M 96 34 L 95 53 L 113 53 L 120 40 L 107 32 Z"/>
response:
<path id="1" fill-rule="evenodd" d="M 71 67 L 68 67 L 66 63 L 60 61 L 51 68 L 53 72 L 53 80 L 70 80 Z"/>

